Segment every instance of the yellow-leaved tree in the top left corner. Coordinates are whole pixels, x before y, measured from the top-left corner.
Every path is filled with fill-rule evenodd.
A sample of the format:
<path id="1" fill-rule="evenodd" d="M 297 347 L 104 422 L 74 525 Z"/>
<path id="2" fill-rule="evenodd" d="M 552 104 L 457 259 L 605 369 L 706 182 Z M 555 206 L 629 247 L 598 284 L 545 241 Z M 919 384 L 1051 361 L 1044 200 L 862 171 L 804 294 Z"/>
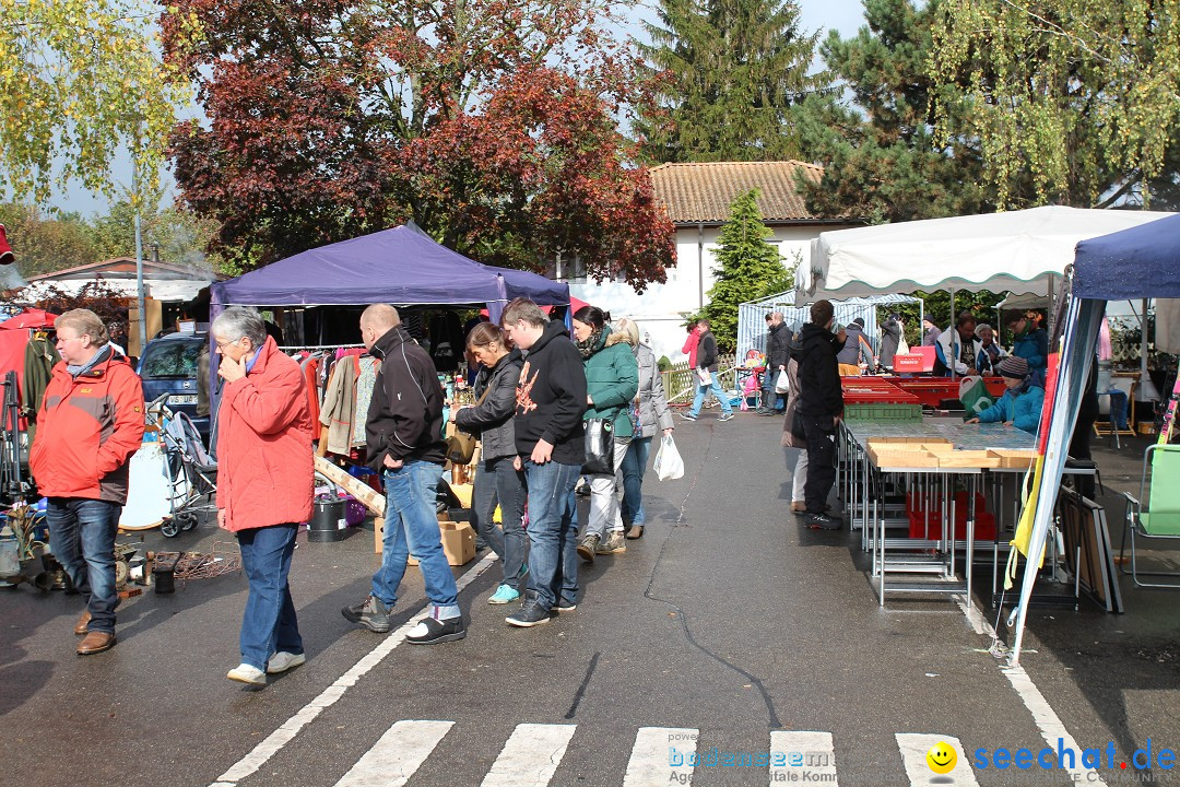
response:
<path id="1" fill-rule="evenodd" d="M 77 178 L 111 196 L 130 151 L 155 186 L 184 84 L 159 58 L 153 13 L 136 0 L 0 0 L 0 186 L 44 203 Z M 181 50 L 192 20 L 164 18 Z"/>

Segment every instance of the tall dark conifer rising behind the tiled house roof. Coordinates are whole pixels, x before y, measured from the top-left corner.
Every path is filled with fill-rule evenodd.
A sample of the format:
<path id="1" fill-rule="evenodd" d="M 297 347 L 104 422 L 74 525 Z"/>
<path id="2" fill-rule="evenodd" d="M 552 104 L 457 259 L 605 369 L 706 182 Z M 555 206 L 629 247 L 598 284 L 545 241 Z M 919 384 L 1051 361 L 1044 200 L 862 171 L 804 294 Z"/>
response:
<path id="1" fill-rule="evenodd" d="M 795 0 L 661 0 L 640 50 L 655 86 L 641 110 L 653 162 L 779 160 L 799 153 L 789 107 L 826 81 L 809 76 L 819 33 Z"/>

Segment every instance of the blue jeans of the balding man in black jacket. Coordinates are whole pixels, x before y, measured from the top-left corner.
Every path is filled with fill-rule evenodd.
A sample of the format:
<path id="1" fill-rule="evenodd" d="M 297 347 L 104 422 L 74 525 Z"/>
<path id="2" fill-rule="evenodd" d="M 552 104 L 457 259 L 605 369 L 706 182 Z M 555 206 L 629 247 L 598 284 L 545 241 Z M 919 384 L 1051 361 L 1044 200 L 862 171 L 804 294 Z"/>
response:
<path id="1" fill-rule="evenodd" d="M 437 608 L 434 617 L 439 621 L 459 617 L 459 591 L 442 552 L 434 507 L 442 465 L 407 461 L 398 470 L 384 470 L 382 476 L 385 534 L 381 568 L 373 575 L 373 595 L 386 606 L 398 602 L 398 585 L 406 573 L 406 560 L 413 553 L 422 570 L 426 597 Z"/>

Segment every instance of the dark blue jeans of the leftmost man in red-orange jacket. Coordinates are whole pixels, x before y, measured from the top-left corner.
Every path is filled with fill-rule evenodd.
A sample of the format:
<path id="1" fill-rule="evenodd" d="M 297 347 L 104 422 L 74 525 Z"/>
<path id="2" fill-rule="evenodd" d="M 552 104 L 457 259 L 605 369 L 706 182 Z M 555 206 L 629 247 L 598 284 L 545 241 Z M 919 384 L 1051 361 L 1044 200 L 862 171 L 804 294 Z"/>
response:
<path id="1" fill-rule="evenodd" d="M 114 634 L 114 533 L 123 506 L 106 500 L 50 498 L 50 550 L 90 610 L 90 630 Z"/>

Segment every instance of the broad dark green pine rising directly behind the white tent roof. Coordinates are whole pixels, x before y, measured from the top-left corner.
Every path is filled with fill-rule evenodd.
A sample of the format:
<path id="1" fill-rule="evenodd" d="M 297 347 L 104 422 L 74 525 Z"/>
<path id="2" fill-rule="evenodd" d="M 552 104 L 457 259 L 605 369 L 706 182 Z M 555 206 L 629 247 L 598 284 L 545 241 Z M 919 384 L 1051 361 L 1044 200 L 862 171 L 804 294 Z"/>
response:
<path id="1" fill-rule="evenodd" d="M 833 85 L 846 90 L 794 110 L 805 157 L 824 165 L 820 181 L 798 184 L 814 215 L 878 224 L 995 210 L 976 142 L 936 145 L 931 98 L 962 93 L 927 73 L 940 2 L 865 0 L 866 25 L 847 39 L 832 31 L 820 46 Z M 959 120 L 948 109 L 948 136 Z"/>

